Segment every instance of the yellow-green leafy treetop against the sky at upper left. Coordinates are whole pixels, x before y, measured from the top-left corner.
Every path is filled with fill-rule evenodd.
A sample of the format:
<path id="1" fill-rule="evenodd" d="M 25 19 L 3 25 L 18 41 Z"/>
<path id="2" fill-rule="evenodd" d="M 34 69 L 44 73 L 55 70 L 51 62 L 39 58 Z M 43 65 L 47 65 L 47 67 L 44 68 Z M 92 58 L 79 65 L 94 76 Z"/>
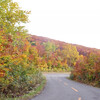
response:
<path id="1" fill-rule="evenodd" d="M 3 29 L 5 34 L 16 35 L 16 32 L 19 32 L 25 35 L 24 26 L 19 25 L 28 22 L 28 14 L 30 12 L 21 10 L 17 2 L 0 0 L 0 29 Z"/>

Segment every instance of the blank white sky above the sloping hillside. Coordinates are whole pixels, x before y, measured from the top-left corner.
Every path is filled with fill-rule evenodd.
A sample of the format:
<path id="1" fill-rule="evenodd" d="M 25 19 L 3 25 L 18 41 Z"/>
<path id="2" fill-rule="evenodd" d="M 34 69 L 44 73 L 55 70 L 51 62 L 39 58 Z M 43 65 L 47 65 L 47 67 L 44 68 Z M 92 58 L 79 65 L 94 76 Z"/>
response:
<path id="1" fill-rule="evenodd" d="M 13 0 L 31 10 L 30 34 L 100 49 L 100 0 Z"/>

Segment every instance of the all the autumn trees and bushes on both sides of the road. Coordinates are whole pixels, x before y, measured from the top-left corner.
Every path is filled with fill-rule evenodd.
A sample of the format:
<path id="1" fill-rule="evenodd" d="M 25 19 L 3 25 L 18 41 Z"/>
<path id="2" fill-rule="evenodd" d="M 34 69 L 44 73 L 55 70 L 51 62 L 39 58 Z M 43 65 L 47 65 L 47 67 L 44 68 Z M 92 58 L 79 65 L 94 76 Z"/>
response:
<path id="1" fill-rule="evenodd" d="M 0 0 L 0 94 L 16 97 L 44 80 L 44 72 L 71 71 L 71 79 L 100 86 L 100 50 L 27 34 L 30 12 Z"/>

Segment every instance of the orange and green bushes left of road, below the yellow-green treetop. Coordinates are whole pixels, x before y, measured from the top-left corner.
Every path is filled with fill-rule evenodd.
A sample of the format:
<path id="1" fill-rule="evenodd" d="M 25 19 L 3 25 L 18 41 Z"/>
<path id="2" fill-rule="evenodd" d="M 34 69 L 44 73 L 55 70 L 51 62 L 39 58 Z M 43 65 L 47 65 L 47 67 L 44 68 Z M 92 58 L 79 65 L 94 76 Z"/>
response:
<path id="1" fill-rule="evenodd" d="M 1 35 L 2 38 L 4 40 L 1 42 L 0 51 L 0 93 L 10 97 L 23 95 L 43 79 L 33 60 L 37 55 L 34 51 L 29 52 L 31 45 L 25 38 L 22 39 L 23 44 L 16 46 L 13 46 L 10 35 Z M 33 55 L 31 59 L 30 55 Z"/>

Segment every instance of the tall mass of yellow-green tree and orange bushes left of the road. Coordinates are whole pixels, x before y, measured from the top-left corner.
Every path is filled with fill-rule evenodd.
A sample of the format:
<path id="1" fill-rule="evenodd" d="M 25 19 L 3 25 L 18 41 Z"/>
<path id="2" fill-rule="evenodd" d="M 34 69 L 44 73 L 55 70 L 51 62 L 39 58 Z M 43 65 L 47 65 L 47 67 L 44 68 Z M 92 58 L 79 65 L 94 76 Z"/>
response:
<path id="1" fill-rule="evenodd" d="M 20 26 L 28 21 L 28 14 L 12 0 L 0 0 L 0 100 L 28 93 L 43 80 L 34 63 L 35 48 Z"/>

